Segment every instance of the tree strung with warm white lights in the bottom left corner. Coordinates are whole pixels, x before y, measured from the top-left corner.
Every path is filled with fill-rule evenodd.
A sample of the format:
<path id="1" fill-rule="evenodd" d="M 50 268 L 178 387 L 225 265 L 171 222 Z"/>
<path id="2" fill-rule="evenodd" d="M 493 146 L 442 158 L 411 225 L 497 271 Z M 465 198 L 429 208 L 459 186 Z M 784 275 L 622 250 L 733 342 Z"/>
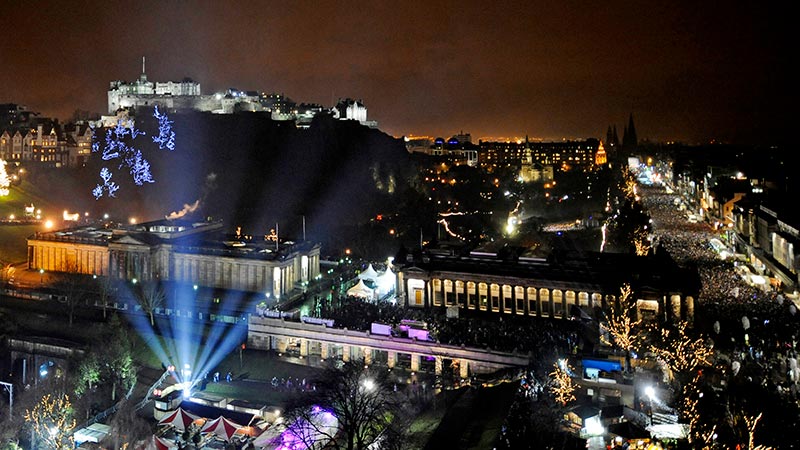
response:
<path id="1" fill-rule="evenodd" d="M 31 426 L 33 436 L 46 448 L 67 450 L 75 447 L 72 429 L 72 403 L 66 394 L 45 394 L 31 410 L 25 410 L 25 421 Z"/>

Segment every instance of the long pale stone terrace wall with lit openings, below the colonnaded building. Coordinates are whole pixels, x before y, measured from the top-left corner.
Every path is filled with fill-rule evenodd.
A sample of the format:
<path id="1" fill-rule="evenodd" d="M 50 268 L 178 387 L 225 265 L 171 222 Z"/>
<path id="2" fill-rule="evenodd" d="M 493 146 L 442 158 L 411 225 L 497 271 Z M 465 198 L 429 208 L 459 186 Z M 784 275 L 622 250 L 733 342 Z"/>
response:
<path id="1" fill-rule="evenodd" d="M 279 318 L 251 315 L 247 342 L 250 348 L 275 350 L 280 354 L 299 353 L 342 361 L 363 361 L 389 368 L 403 367 L 411 372 L 434 372 L 445 367 L 457 370 L 461 378 L 470 374 L 491 373 L 498 369 L 525 367 L 530 357 L 368 331 L 328 328 L 324 324 L 299 323 Z M 432 367 L 431 367 L 432 365 Z"/>

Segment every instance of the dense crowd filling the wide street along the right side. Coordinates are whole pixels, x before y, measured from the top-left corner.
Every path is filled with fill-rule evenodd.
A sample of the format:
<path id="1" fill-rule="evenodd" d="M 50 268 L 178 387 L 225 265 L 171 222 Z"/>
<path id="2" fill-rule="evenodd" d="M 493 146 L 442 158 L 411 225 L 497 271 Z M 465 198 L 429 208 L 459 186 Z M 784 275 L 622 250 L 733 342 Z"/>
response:
<path id="1" fill-rule="evenodd" d="M 710 338 L 718 361 L 734 376 L 741 373 L 783 395 L 797 399 L 797 308 L 771 284 L 755 285 L 746 275 L 757 272 L 735 252 L 722 257 L 712 239 L 724 240 L 706 223 L 691 223 L 676 194 L 643 190 L 643 204 L 653 220 L 656 252 L 666 250 L 679 265 L 694 267 L 700 280 L 695 329 Z M 744 266 L 744 267 L 741 267 Z"/>

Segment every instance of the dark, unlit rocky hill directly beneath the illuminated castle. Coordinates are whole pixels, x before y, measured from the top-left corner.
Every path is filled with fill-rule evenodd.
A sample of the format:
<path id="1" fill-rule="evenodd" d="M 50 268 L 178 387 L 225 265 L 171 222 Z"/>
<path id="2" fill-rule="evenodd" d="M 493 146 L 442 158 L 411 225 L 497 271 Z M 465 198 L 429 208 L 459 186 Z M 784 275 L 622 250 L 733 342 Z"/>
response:
<path id="1" fill-rule="evenodd" d="M 147 135 L 134 144 L 150 162 L 154 183 L 135 186 L 118 162 L 93 154 L 76 173 L 85 192 L 73 194 L 98 214 L 150 220 L 187 205 L 193 217 L 222 218 L 253 234 L 267 233 L 278 222 L 282 235 L 299 235 L 305 216 L 311 238 L 385 208 L 412 170 L 401 141 L 354 121 L 319 115 L 310 128 L 298 129 L 293 122 L 260 113 L 170 118 L 176 133 L 173 152 L 152 143 L 156 124 L 151 118 L 137 122 Z M 115 170 L 120 190 L 115 198 L 94 201 L 90 191 L 102 167 Z M 197 200 L 199 207 L 192 208 Z"/>

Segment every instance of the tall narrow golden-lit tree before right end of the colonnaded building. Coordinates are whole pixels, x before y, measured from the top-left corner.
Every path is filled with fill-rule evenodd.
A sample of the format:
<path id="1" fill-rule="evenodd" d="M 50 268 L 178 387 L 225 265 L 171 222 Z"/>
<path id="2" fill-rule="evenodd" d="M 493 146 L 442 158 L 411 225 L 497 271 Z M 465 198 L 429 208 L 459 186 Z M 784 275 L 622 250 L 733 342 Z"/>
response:
<path id="1" fill-rule="evenodd" d="M 625 352 L 625 363 L 630 369 L 631 352 L 644 343 L 646 327 L 642 320 L 636 318 L 636 302 L 632 298 L 633 291 L 629 284 L 620 288 L 616 304 L 609 305 L 605 313 L 606 321 L 602 328 L 608 333 L 600 334 L 600 341 L 605 345 L 617 347 Z"/>

